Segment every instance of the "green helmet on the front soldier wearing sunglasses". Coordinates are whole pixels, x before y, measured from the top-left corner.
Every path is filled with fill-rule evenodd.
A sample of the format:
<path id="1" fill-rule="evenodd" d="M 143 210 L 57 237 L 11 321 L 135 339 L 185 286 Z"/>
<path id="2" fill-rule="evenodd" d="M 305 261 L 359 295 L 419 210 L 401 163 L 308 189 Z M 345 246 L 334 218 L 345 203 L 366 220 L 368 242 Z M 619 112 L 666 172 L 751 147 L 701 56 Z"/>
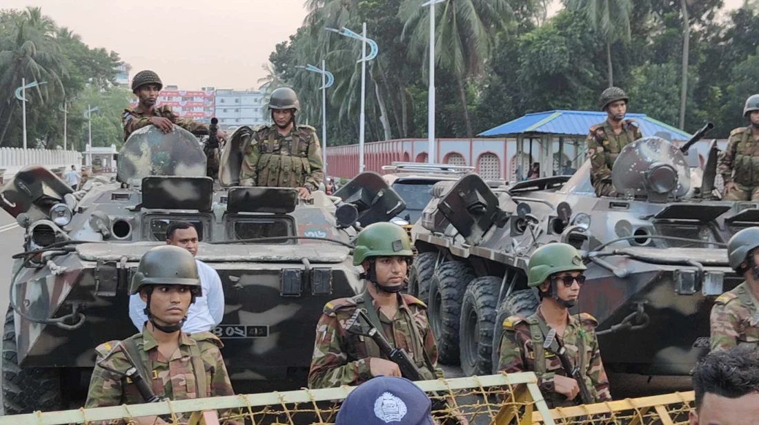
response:
<path id="1" fill-rule="evenodd" d="M 537 248 L 528 264 L 528 286 L 540 286 L 552 274 L 587 269 L 577 249 L 567 243 L 549 243 Z"/>

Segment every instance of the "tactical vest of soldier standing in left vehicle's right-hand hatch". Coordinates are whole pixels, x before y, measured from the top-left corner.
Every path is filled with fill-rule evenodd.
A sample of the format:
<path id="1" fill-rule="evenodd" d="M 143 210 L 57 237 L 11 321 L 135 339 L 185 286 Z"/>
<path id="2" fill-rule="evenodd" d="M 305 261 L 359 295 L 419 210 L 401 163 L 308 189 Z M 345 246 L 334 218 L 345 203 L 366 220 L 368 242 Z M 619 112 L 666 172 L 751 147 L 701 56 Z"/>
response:
<path id="1" fill-rule="evenodd" d="M 258 186 L 301 187 L 311 173 L 308 162 L 308 144 L 301 143 L 302 130 L 292 133 L 289 146 L 276 146 L 276 129 L 269 130 L 266 141 L 259 143 Z"/>

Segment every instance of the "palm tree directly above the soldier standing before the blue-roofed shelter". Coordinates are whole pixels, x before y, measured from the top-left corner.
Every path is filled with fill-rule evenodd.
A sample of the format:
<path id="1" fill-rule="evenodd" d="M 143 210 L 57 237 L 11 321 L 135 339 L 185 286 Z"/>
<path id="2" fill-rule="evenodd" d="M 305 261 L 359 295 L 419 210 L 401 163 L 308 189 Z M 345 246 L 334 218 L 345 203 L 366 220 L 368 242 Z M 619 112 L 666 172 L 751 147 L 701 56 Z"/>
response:
<path id="1" fill-rule="evenodd" d="M 591 27 L 606 42 L 606 67 L 609 73 L 609 87 L 614 85 L 614 67 L 612 65 L 612 44 L 622 40 L 629 42 L 631 0 L 567 0 L 568 8 L 581 11 Z"/>

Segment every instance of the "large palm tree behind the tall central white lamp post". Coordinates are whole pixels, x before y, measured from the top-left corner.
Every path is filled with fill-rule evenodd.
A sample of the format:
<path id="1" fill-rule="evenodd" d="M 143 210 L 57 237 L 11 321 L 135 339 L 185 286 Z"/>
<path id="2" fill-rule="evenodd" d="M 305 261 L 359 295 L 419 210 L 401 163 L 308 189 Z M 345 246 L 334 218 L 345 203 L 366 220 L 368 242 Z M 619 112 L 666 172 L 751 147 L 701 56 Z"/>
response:
<path id="1" fill-rule="evenodd" d="M 411 34 L 409 58 L 424 58 L 423 63 L 427 63 L 430 11 L 421 8 L 421 4 L 419 0 L 405 0 L 398 17 L 404 23 L 402 38 Z M 467 107 L 467 79 L 483 70 L 496 34 L 505 28 L 512 10 L 507 0 L 446 0 L 436 6 L 435 14 L 435 62 L 456 77 L 467 136 L 471 138 L 474 134 Z"/>

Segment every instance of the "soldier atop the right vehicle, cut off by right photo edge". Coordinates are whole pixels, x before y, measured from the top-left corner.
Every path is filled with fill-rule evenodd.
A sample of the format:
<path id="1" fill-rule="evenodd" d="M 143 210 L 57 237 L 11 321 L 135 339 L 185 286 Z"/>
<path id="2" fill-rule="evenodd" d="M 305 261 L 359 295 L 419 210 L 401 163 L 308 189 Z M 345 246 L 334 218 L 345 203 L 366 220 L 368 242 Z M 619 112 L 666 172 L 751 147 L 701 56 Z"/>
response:
<path id="1" fill-rule="evenodd" d="M 717 166 L 727 201 L 759 201 L 759 95 L 746 99 L 743 117 L 748 119 L 748 127 L 730 132 Z"/>

